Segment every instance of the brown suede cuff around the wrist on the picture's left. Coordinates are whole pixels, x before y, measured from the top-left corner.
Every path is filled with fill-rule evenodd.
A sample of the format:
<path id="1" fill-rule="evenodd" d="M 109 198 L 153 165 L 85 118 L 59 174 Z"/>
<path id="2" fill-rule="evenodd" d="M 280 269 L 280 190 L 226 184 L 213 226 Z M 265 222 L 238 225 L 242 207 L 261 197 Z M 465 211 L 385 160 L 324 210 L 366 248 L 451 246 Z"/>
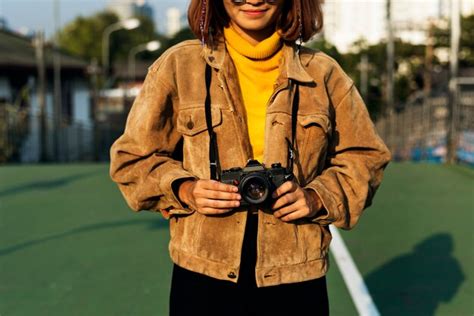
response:
<path id="1" fill-rule="evenodd" d="M 173 190 L 173 183 L 175 181 L 183 181 L 186 179 L 197 179 L 194 175 L 186 170 L 172 170 L 166 172 L 160 181 L 160 190 L 164 193 L 164 201 L 166 206 L 161 208 L 161 213 L 165 218 L 170 215 L 189 215 L 194 213 L 187 205 L 181 202 L 177 196 L 177 192 Z"/>

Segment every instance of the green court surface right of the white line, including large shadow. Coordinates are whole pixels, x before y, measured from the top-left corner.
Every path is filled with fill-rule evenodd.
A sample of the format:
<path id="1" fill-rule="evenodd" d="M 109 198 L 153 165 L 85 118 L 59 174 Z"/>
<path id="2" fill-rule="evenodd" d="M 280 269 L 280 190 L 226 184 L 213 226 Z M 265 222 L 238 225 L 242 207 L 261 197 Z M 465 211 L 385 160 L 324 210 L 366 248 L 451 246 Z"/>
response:
<path id="1" fill-rule="evenodd" d="M 392 164 L 342 236 L 382 315 L 474 314 L 474 171 Z"/>

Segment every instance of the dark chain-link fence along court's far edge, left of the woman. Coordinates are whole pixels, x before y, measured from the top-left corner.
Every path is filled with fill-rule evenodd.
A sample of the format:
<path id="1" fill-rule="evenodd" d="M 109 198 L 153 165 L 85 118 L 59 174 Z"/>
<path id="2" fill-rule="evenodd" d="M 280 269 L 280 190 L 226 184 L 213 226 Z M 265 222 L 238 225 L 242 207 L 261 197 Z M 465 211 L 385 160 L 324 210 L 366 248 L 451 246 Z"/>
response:
<path id="1" fill-rule="evenodd" d="M 0 104 L 0 163 L 106 161 L 123 126 L 55 122 Z"/>

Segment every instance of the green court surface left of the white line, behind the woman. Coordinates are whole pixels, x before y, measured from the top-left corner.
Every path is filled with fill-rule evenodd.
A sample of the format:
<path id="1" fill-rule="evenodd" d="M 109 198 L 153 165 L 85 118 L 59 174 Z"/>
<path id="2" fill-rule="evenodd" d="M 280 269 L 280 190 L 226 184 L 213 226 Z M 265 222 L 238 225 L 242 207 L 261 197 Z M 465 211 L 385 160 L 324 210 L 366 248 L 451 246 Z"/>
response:
<path id="1" fill-rule="evenodd" d="M 167 315 L 167 222 L 130 211 L 107 171 L 0 167 L 0 315 Z M 354 315 L 335 264 L 328 287 Z"/>

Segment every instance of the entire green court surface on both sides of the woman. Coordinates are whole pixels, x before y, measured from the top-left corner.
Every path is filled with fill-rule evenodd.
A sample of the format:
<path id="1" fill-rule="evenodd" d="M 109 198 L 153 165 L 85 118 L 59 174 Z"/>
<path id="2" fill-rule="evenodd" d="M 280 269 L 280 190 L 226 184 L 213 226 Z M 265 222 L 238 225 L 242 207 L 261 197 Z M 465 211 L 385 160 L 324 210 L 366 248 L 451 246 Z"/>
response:
<path id="1" fill-rule="evenodd" d="M 107 168 L 0 167 L 1 316 L 167 314 L 167 222 L 130 211 Z M 392 164 L 342 232 L 382 315 L 474 314 L 473 180 L 464 167 Z M 331 263 L 332 314 L 356 315 Z"/>

